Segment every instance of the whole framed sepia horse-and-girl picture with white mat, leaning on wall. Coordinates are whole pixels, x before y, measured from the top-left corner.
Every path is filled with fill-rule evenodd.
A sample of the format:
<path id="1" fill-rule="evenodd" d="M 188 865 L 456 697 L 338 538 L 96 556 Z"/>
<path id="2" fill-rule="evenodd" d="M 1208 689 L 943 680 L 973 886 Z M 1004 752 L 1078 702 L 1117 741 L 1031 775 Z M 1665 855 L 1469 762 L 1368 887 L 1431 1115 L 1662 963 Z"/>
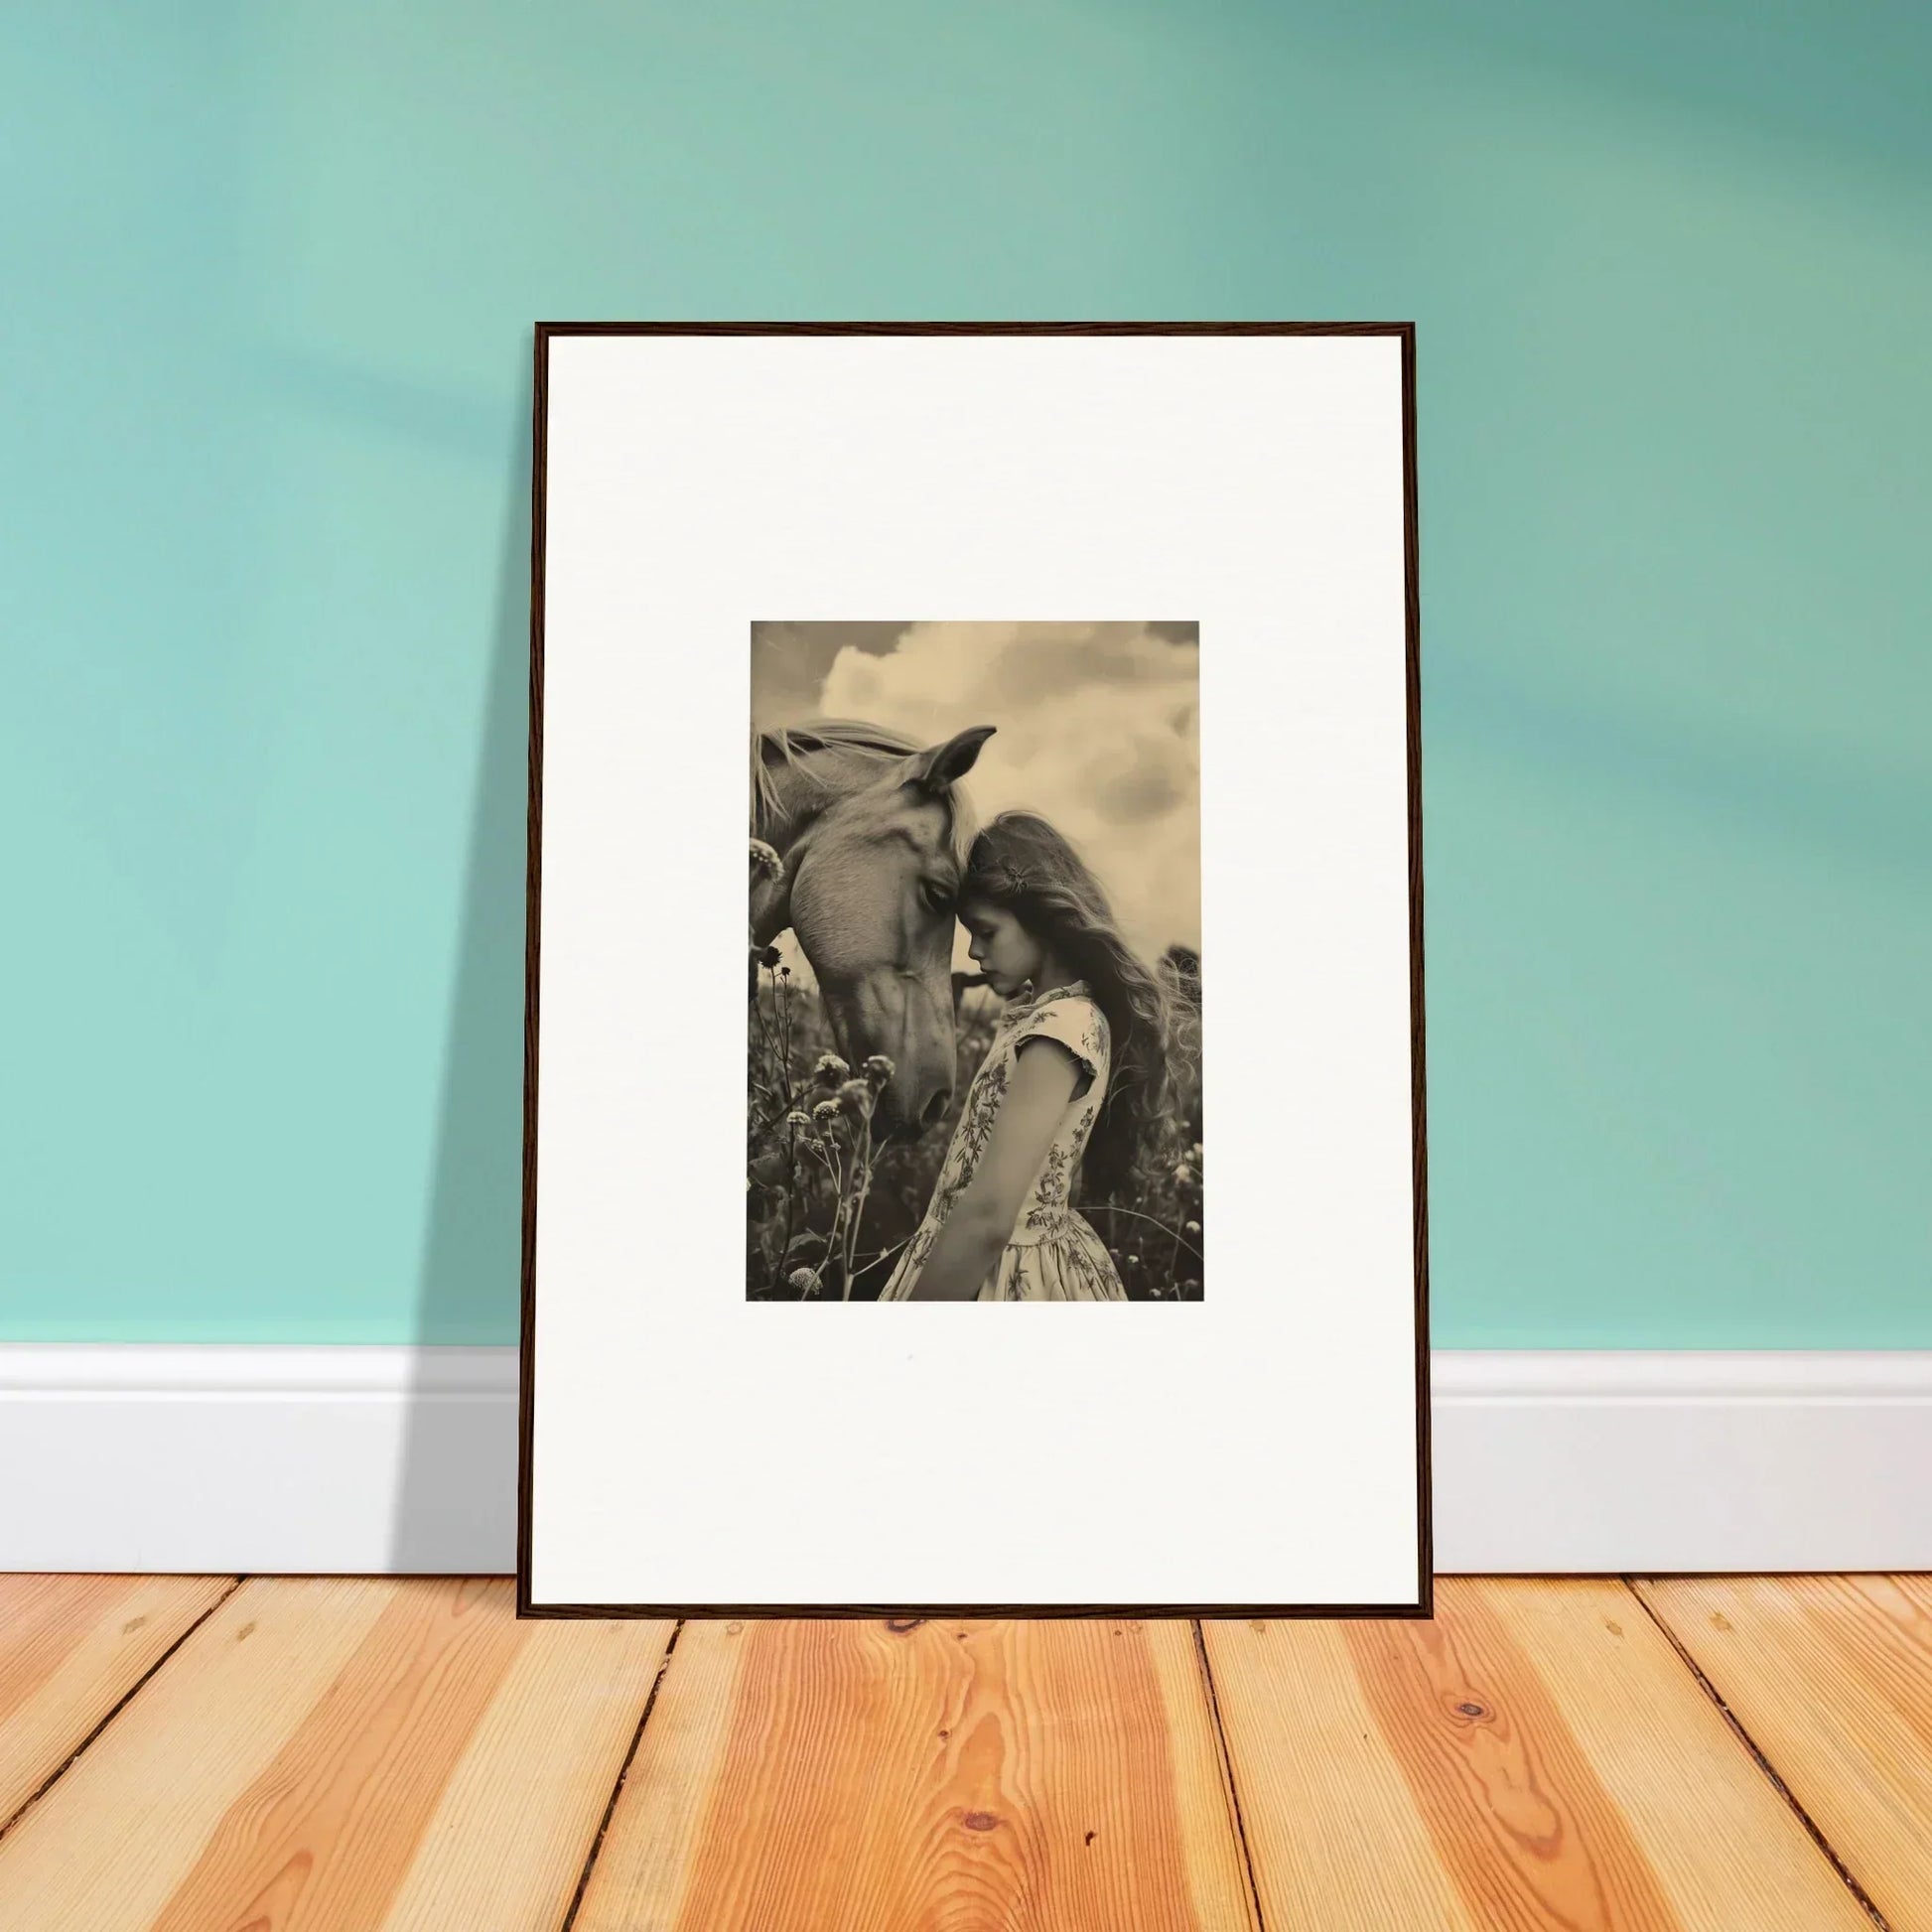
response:
<path id="1" fill-rule="evenodd" d="M 520 1613 L 1426 1617 L 1410 325 L 545 325 L 531 572 Z"/>

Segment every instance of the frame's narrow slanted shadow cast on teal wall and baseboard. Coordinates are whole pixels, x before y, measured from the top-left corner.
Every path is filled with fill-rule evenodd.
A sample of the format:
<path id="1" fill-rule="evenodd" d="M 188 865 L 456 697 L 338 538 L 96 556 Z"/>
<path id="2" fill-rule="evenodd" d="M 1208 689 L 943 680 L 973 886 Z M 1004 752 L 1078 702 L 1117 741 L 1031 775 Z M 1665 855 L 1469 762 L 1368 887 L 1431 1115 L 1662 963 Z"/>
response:
<path id="1" fill-rule="evenodd" d="M 497 618 L 437 1117 L 390 1569 L 508 1571 L 516 1561 L 514 1391 L 500 1333 L 520 1293 L 524 1196 L 524 854 L 529 796 L 529 412 L 526 361 L 504 456 Z M 448 1347 L 448 1345 L 456 1347 Z M 460 1499 L 460 1507 L 458 1505 Z M 493 1553 L 479 1565 L 477 1551 Z M 500 1551 L 500 1555 L 497 1555 Z"/>

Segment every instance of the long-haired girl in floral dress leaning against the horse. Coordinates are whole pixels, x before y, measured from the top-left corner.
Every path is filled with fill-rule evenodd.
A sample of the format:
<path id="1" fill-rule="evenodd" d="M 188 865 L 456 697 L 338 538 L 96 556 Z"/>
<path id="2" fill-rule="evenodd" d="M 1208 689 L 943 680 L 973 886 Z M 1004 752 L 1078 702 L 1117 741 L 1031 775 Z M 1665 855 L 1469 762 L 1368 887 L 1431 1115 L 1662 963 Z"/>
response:
<path id="1" fill-rule="evenodd" d="M 958 916 L 985 983 L 1010 1005 L 879 1300 L 1124 1302 L 1070 1196 L 1076 1173 L 1094 1192 L 1124 1182 L 1159 1119 L 1161 985 L 1037 813 L 1003 811 L 980 833 Z"/>

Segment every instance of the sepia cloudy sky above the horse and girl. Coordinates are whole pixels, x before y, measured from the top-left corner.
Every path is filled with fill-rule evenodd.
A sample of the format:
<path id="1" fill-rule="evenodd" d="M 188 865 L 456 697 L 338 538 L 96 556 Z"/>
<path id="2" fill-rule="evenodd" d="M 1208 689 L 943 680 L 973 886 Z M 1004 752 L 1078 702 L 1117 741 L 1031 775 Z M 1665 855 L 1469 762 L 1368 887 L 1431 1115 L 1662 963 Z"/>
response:
<path id="1" fill-rule="evenodd" d="M 997 724 L 980 811 L 1053 819 L 1144 958 L 1200 945 L 1198 624 L 753 624 L 752 715 Z"/>

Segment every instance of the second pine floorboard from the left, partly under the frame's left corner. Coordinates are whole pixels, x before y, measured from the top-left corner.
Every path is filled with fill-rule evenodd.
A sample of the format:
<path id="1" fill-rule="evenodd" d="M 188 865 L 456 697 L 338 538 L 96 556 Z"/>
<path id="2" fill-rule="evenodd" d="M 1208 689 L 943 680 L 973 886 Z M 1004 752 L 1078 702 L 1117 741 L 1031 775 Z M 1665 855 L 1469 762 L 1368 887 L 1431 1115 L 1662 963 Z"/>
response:
<path id="1" fill-rule="evenodd" d="M 245 1584 L 0 1841 L 10 1932 L 558 1926 L 668 1629 L 512 1607 Z"/>

